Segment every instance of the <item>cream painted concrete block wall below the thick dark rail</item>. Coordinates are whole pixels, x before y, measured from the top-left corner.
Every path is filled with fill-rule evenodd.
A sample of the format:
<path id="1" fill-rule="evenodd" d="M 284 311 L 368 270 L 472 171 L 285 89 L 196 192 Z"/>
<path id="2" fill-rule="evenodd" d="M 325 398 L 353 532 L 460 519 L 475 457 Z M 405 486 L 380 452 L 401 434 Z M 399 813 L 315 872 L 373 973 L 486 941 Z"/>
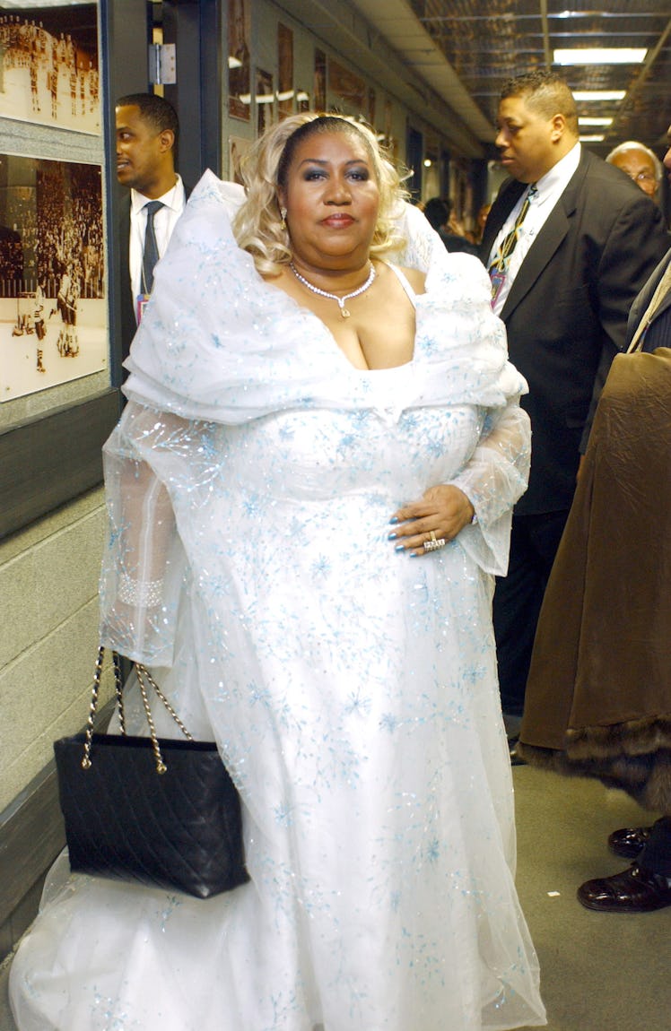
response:
<path id="1" fill-rule="evenodd" d="M 0 813 L 86 722 L 104 525 L 98 489 L 0 542 Z"/>

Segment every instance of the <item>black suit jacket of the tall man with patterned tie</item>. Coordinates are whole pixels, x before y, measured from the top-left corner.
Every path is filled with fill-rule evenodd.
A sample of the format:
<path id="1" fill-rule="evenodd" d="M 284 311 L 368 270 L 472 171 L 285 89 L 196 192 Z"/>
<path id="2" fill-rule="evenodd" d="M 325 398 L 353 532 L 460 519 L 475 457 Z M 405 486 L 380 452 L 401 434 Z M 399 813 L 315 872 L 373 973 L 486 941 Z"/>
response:
<path id="1" fill-rule="evenodd" d="M 491 245 L 525 185 L 504 184 L 481 245 Z M 517 512 L 568 509 L 593 397 L 625 346 L 637 292 L 668 248 L 660 208 L 584 148 L 526 254 L 501 317 L 510 359 L 529 381 L 532 470 Z"/>

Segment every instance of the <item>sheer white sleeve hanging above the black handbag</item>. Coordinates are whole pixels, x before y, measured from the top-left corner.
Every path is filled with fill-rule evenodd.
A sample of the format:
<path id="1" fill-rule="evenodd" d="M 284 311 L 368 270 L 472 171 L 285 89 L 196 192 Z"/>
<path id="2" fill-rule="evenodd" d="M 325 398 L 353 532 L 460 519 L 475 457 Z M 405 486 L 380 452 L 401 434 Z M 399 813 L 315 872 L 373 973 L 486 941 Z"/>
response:
<path id="1" fill-rule="evenodd" d="M 131 401 L 103 450 L 100 639 L 130 659 L 168 667 L 186 563 L 168 490 L 148 457 L 186 425 Z"/>

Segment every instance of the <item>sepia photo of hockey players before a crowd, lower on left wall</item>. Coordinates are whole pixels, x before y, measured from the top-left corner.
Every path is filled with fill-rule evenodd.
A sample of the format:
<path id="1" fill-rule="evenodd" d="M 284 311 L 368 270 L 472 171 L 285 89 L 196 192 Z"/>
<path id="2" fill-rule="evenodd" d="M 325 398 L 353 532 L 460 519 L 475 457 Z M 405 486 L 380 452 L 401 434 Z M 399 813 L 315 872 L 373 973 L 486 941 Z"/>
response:
<path id="1" fill-rule="evenodd" d="M 99 165 L 0 155 L 0 404 L 107 365 Z"/>

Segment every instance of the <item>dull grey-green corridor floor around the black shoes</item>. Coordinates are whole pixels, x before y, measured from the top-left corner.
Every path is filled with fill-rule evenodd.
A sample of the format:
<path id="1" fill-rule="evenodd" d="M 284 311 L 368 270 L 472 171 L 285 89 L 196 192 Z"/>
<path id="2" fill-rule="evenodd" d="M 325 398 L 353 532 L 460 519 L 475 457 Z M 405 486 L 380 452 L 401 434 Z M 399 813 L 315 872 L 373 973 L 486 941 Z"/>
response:
<path id="1" fill-rule="evenodd" d="M 517 887 L 539 954 L 547 1031 L 670 1031 L 671 908 L 614 916 L 589 912 L 575 900 L 583 880 L 627 865 L 607 851 L 610 831 L 649 822 L 649 814 L 620 792 L 592 781 L 526 766 L 515 768 L 514 779 Z M 5 962 L 0 1031 L 17 1031 L 7 974 Z"/>

